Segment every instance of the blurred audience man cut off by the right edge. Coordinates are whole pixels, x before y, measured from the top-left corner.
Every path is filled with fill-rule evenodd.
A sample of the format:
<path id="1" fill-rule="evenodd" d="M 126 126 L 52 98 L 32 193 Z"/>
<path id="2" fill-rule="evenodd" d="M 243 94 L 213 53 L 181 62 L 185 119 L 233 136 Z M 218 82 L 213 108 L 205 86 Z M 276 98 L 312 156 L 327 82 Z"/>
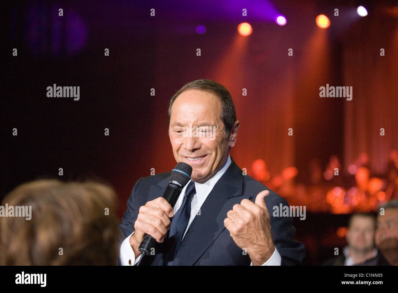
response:
<path id="1" fill-rule="evenodd" d="M 382 212 L 384 208 L 384 213 Z M 361 265 L 398 265 L 398 201 L 380 206 L 375 243 L 378 255 Z"/>

